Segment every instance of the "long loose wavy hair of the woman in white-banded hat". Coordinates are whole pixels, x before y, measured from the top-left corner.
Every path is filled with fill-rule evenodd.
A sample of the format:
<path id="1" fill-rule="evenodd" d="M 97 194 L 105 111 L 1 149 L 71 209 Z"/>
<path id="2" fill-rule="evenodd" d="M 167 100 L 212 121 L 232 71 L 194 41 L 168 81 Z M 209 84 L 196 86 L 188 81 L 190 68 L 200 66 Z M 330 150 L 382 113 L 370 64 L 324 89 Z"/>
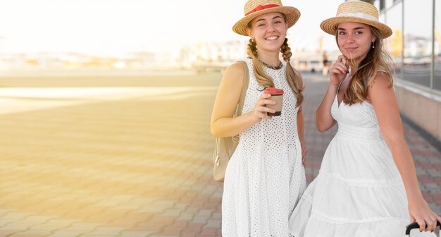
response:
<path id="1" fill-rule="evenodd" d="M 370 27 L 372 34 L 375 36 L 373 42 L 374 48 L 369 49 L 366 57 L 356 65 L 354 60 L 349 60 L 351 66 L 352 80 L 349 83 L 347 91 L 344 92 L 344 104 L 356 104 L 364 102 L 368 99 L 368 90 L 371 87 L 373 80 L 377 76 L 378 71 L 382 71 L 389 80 L 389 86 L 392 87 L 392 59 L 389 54 L 383 51 L 383 40 L 380 37 L 380 31 L 377 28 Z M 338 34 L 335 36 L 338 45 Z"/>

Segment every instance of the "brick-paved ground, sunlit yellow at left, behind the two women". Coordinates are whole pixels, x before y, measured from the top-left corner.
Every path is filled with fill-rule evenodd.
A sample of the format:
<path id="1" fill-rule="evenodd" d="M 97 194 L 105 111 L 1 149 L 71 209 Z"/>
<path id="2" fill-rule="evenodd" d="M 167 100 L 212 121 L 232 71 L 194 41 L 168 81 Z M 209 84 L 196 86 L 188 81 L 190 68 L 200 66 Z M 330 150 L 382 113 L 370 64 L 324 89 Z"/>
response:
<path id="1" fill-rule="evenodd" d="M 335 128 L 316 130 L 326 81 L 304 78 L 311 181 Z M 221 236 L 209 133 L 219 79 L 0 79 L 0 236 Z M 404 128 L 423 193 L 441 213 L 440 152 Z"/>

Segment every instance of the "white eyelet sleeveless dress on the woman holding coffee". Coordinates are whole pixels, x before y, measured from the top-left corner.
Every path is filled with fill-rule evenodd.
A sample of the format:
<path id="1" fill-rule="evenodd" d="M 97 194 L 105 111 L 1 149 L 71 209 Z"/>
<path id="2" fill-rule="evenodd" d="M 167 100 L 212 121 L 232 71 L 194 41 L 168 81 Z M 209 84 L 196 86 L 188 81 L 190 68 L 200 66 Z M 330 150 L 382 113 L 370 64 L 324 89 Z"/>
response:
<path id="1" fill-rule="evenodd" d="M 249 87 L 242 114 L 254 109 L 263 92 L 251 59 Z M 302 151 L 297 135 L 297 97 L 286 81 L 286 66 L 264 68 L 275 87 L 284 90 L 282 114 L 263 119 L 240 134 L 240 142 L 225 172 L 222 236 L 287 237 L 289 218 L 306 188 Z"/>

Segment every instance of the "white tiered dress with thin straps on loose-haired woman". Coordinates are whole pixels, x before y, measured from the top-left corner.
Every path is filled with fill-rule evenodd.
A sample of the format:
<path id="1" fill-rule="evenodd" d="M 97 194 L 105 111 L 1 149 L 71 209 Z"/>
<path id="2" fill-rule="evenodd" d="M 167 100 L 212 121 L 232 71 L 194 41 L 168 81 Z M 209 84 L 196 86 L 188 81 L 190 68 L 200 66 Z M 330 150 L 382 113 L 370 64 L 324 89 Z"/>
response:
<path id="1" fill-rule="evenodd" d="M 410 221 L 406 192 L 372 105 L 339 106 L 336 95 L 331 114 L 338 131 L 292 214 L 292 235 L 404 236 Z"/>

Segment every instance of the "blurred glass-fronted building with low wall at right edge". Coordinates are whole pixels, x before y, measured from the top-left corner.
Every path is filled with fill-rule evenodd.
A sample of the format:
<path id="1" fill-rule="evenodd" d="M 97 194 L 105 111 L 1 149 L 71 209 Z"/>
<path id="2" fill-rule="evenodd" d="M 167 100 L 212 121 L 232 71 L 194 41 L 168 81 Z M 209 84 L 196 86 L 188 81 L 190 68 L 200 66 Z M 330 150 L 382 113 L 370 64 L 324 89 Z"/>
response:
<path id="1" fill-rule="evenodd" d="M 395 63 L 402 114 L 441 140 L 441 2 L 375 0 L 380 22 L 392 28 L 385 47 Z"/>

